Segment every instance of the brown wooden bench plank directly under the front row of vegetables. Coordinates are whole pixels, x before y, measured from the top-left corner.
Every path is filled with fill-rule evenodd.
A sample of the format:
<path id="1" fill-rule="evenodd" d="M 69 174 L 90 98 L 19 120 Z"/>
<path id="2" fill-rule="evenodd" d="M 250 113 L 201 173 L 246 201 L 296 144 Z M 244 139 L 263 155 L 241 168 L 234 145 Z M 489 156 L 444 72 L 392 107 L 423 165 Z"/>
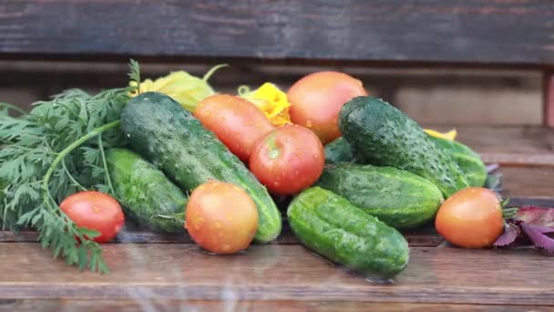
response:
<path id="1" fill-rule="evenodd" d="M 188 299 L 554 305 L 552 260 L 533 250 L 411 249 L 394 284 L 368 282 L 299 245 L 208 255 L 190 244 L 108 244 L 112 272 L 79 273 L 37 244 L 0 244 L 0 299 Z"/>

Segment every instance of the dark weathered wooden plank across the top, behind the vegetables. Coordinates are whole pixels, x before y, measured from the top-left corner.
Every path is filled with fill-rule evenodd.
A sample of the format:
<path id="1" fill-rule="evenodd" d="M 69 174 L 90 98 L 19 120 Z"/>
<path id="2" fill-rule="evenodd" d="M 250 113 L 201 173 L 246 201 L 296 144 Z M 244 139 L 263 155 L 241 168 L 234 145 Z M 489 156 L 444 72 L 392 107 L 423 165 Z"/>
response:
<path id="1" fill-rule="evenodd" d="M 553 64 L 549 0 L 17 0 L 0 52 Z"/>

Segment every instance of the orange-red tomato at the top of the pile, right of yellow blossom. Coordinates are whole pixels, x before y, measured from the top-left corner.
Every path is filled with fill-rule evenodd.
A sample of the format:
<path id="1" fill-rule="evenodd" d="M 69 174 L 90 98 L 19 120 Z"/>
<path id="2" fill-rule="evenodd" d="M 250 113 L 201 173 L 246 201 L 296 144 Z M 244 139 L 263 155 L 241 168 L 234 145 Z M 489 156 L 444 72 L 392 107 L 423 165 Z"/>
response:
<path id="1" fill-rule="evenodd" d="M 362 81 L 336 71 L 305 76 L 287 92 L 292 122 L 313 130 L 323 144 L 341 136 L 337 120 L 344 103 L 366 95 Z"/>

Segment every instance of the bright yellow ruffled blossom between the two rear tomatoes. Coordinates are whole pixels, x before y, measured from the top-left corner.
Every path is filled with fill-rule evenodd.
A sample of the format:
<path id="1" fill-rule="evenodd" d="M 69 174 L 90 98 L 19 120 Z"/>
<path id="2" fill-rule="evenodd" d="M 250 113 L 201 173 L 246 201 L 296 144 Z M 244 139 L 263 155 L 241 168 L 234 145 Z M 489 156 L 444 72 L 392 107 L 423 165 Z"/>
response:
<path id="1" fill-rule="evenodd" d="M 262 109 L 274 126 L 291 123 L 291 116 L 289 115 L 291 103 L 289 103 L 286 93 L 272 83 L 266 82 L 262 87 L 253 91 L 246 86 L 241 86 L 239 96 L 248 99 L 259 109 Z"/>

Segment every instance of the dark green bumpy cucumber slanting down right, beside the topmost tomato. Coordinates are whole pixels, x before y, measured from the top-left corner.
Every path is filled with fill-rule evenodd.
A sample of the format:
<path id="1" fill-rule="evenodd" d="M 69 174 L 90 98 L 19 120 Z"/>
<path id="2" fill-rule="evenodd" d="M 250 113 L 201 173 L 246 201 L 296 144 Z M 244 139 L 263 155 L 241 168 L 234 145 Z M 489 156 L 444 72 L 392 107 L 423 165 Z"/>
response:
<path id="1" fill-rule="evenodd" d="M 433 182 L 446 198 L 468 186 L 457 163 L 414 120 L 382 99 L 350 100 L 338 123 L 358 162 L 412 172 Z"/>

